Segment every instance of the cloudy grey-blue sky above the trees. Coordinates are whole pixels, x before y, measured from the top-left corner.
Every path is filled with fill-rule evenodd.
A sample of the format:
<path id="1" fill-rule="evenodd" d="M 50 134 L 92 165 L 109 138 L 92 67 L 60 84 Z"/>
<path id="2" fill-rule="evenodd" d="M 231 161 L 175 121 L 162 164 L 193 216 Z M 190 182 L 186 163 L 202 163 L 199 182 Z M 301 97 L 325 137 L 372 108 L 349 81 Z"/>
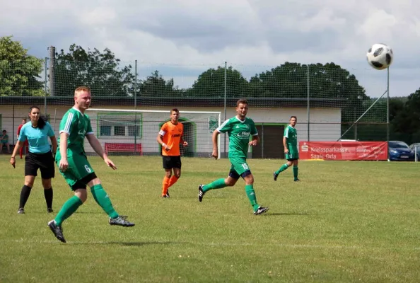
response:
<path id="1" fill-rule="evenodd" d="M 419 11 L 417 0 L 0 0 L 0 36 L 37 57 L 50 45 L 109 48 L 137 59 L 141 79 L 158 69 L 180 87 L 224 62 L 247 78 L 284 62 L 334 62 L 371 97 L 386 90 L 387 72 L 366 52 L 385 42 L 395 54 L 390 96 L 407 96 L 420 88 Z"/>

